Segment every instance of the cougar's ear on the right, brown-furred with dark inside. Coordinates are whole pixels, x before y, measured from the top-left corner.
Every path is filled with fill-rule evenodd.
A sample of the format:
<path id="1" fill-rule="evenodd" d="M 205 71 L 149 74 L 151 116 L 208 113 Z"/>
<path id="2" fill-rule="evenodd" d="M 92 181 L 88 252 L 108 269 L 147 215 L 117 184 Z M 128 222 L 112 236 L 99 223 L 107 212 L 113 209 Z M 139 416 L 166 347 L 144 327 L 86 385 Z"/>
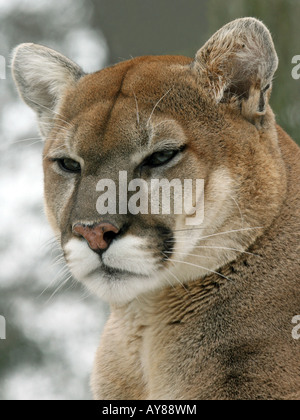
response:
<path id="1" fill-rule="evenodd" d="M 266 112 L 278 57 L 271 34 L 254 18 L 221 28 L 197 52 L 194 68 L 216 102 L 234 102 L 256 123 Z"/>

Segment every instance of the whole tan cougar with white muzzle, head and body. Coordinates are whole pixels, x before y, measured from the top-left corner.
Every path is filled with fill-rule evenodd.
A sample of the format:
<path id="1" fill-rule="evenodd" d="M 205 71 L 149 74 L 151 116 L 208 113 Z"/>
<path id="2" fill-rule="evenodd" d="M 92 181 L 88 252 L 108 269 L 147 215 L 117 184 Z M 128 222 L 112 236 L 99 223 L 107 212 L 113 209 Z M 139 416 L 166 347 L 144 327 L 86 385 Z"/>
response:
<path id="1" fill-rule="evenodd" d="M 300 152 L 269 105 L 277 66 L 254 18 L 195 59 L 94 74 L 41 45 L 15 49 L 45 140 L 46 214 L 74 278 L 111 307 L 95 399 L 300 398 Z M 200 185 L 181 212 L 175 180 Z"/>

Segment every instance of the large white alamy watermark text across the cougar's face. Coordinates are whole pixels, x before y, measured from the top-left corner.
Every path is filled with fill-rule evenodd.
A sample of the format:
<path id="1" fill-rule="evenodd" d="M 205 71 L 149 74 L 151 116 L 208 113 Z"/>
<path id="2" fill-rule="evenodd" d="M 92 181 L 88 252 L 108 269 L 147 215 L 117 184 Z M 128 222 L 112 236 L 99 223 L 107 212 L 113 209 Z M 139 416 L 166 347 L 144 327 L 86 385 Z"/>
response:
<path id="1" fill-rule="evenodd" d="M 101 192 L 96 204 L 99 214 L 176 214 L 185 216 L 188 226 L 204 221 L 203 179 L 136 178 L 128 183 L 126 171 L 119 181 L 102 179 L 96 190 Z"/>

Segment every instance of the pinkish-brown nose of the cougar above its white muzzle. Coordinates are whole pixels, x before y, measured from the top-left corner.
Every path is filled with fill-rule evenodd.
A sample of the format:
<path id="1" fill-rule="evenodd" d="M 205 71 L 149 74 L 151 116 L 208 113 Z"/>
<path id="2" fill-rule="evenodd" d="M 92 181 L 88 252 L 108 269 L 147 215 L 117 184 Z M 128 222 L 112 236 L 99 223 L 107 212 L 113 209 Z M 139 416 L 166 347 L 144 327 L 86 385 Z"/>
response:
<path id="1" fill-rule="evenodd" d="M 109 247 L 111 241 L 119 233 L 119 229 L 111 223 L 99 223 L 92 226 L 78 223 L 73 227 L 73 232 L 82 236 L 93 251 L 101 252 Z"/>

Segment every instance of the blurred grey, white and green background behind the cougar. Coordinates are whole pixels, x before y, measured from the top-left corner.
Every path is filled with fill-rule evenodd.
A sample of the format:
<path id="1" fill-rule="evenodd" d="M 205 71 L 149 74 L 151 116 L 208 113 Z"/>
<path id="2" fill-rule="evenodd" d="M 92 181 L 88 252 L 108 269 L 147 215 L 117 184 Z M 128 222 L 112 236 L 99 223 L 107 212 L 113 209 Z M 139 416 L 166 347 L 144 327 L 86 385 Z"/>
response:
<path id="1" fill-rule="evenodd" d="M 109 308 L 69 278 L 43 213 L 42 142 L 14 89 L 9 57 L 47 45 L 85 71 L 146 54 L 196 51 L 217 29 L 254 16 L 280 59 L 271 105 L 300 143 L 299 0 L 0 0 L 0 399 L 90 399 L 89 374 Z M 1 61 L 0 61 L 1 64 Z M 3 69 L 2 76 L 4 75 Z"/>

